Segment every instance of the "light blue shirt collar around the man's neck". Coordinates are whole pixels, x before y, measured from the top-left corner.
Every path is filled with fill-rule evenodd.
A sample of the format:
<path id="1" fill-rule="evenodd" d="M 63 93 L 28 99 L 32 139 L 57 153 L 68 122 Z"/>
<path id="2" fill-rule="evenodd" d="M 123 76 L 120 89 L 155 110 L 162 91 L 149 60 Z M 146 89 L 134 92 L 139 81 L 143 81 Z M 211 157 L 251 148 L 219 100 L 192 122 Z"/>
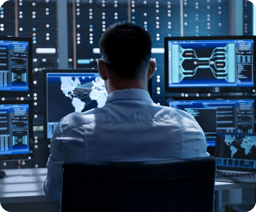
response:
<path id="1" fill-rule="evenodd" d="M 111 92 L 108 95 L 106 104 L 116 100 L 145 100 L 153 103 L 153 100 L 147 91 L 137 88 L 129 88 Z"/>

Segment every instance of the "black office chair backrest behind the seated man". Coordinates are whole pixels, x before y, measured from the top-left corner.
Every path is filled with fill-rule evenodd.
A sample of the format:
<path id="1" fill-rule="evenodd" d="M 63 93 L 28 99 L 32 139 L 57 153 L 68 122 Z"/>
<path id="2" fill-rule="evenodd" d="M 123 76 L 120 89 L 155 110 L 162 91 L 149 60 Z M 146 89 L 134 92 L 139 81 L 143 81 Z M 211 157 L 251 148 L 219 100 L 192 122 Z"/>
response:
<path id="1" fill-rule="evenodd" d="M 63 163 L 61 212 L 212 212 L 215 158 Z"/>

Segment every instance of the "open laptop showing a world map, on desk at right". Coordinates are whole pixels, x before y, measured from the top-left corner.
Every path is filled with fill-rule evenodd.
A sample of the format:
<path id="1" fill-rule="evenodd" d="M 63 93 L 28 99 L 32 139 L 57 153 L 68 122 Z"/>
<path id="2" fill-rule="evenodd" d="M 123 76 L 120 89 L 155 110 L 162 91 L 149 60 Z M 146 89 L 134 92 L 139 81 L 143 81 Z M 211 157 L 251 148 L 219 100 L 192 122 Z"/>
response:
<path id="1" fill-rule="evenodd" d="M 256 183 L 256 134 L 218 132 L 217 181 Z"/>

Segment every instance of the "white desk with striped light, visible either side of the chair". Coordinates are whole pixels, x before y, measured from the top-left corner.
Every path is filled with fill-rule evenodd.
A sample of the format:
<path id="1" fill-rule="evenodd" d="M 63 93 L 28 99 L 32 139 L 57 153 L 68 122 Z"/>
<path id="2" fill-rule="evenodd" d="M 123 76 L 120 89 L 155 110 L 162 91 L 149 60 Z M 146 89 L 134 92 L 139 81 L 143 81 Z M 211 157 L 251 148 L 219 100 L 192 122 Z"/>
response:
<path id="1" fill-rule="evenodd" d="M 43 185 L 47 175 L 46 168 L 5 169 L 4 171 L 6 177 L 0 179 L 0 203 L 4 209 L 5 207 L 7 209 L 12 206 L 12 208 L 16 207 L 17 210 L 9 209 L 9 212 L 59 211 L 59 201 L 51 201 L 44 194 Z M 234 189 L 253 187 L 256 187 L 256 183 L 227 183 L 215 181 L 215 191 L 236 191 Z M 220 198 L 218 198 L 218 201 L 219 200 Z M 237 201 L 232 202 L 231 200 L 230 203 L 237 203 Z M 28 205 L 29 210 L 26 209 Z"/>

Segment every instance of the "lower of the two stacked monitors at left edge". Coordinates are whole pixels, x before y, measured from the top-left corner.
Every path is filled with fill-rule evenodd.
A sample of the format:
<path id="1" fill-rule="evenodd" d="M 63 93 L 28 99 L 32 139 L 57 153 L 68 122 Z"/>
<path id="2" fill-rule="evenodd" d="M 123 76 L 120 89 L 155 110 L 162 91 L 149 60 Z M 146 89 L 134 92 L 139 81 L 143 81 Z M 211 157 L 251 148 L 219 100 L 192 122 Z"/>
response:
<path id="1" fill-rule="evenodd" d="M 0 101 L 0 160 L 33 157 L 32 101 Z"/>

